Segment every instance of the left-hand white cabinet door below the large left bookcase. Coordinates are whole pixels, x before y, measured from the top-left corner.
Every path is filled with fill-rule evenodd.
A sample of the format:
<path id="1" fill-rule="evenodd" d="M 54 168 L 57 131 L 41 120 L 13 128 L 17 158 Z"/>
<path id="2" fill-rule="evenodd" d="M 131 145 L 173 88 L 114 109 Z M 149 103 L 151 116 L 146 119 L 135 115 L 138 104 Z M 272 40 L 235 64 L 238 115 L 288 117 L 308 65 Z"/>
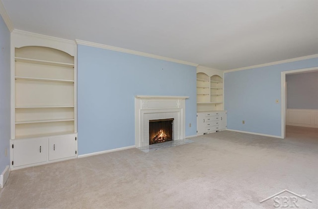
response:
<path id="1" fill-rule="evenodd" d="M 47 138 L 16 140 L 12 143 L 13 167 L 47 160 Z"/>

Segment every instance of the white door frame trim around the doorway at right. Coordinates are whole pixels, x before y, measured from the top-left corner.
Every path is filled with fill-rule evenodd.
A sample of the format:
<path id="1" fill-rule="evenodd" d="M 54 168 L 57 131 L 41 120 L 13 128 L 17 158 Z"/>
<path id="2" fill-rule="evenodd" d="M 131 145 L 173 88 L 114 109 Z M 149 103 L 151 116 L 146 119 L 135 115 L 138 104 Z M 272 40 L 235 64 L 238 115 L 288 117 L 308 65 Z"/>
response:
<path id="1" fill-rule="evenodd" d="M 286 136 L 286 75 L 296 73 L 306 73 L 318 71 L 318 67 L 303 68 L 298 70 L 288 70 L 281 72 L 281 130 L 282 138 Z"/>

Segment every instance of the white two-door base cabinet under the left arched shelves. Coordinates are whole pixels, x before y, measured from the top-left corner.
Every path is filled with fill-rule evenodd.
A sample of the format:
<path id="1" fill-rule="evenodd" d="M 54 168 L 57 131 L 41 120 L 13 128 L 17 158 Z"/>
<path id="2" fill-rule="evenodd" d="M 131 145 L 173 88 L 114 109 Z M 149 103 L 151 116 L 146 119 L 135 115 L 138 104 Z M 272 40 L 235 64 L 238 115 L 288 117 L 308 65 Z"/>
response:
<path id="1" fill-rule="evenodd" d="M 11 169 L 76 158 L 77 135 L 11 140 Z"/>

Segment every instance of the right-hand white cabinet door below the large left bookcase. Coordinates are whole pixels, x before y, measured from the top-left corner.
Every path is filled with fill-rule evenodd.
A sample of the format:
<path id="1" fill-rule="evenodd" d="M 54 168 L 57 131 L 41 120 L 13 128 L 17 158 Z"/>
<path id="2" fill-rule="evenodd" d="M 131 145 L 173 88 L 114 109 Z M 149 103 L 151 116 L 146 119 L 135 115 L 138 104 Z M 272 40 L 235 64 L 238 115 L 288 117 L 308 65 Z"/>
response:
<path id="1" fill-rule="evenodd" d="M 76 156 L 76 136 L 49 138 L 49 160 Z"/>

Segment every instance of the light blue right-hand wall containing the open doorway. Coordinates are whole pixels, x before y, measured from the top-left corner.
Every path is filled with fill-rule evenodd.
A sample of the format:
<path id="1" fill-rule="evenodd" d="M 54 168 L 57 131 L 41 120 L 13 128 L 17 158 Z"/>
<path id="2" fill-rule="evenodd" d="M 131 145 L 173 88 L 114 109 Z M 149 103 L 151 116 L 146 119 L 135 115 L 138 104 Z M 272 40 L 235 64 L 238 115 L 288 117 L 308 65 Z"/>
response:
<path id="1" fill-rule="evenodd" d="M 312 58 L 225 73 L 227 128 L 281 136 L 281 72 L 317 66 Z"/>

